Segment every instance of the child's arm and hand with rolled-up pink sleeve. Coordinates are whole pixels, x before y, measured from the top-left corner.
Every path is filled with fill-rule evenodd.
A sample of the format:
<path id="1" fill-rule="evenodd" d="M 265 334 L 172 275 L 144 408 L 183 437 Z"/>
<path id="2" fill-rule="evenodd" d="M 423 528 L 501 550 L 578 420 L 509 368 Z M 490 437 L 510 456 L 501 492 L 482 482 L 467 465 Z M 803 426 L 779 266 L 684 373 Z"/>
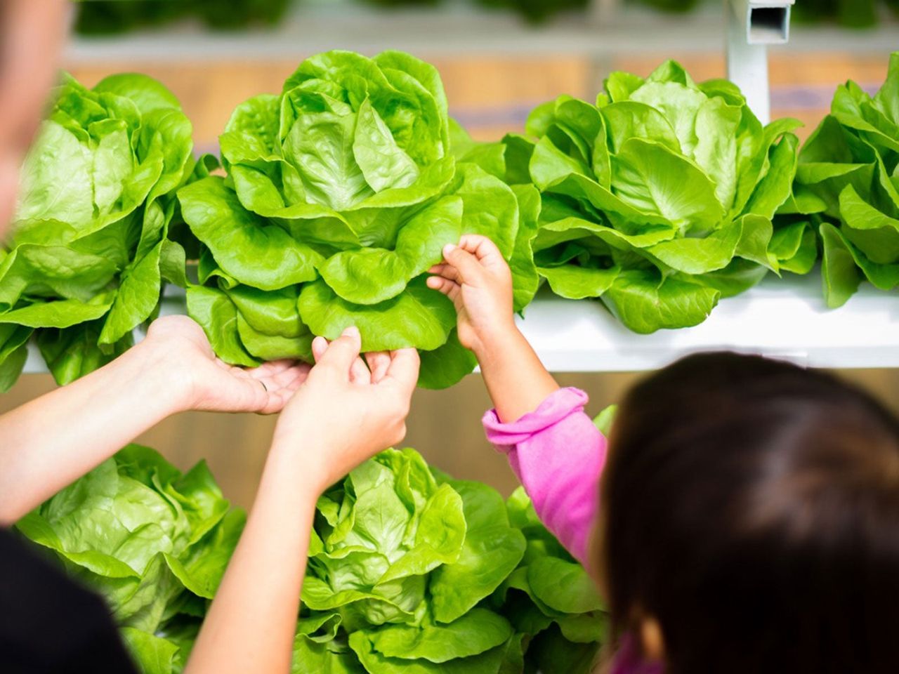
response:
<path id="1" fill-rule="evenodd" d="M 509 457 L 539 518 L 581 562 L 599 503 L 606 440 L 583 413 L 587 396 L 560 389 L 515 326 L 512 274 L 483 236 L 463 236 L 432 268 L 431 288 L 453 300 L 458 337 L 481 366 L 495 411 L 487 438 Z"/>

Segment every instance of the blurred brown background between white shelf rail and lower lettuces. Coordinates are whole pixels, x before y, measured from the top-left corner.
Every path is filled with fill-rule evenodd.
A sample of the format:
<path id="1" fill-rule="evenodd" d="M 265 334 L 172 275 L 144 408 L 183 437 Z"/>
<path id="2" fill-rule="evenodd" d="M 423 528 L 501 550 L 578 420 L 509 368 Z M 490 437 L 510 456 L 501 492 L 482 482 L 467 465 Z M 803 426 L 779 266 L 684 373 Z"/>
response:
<path id="1" fill-rule="evenodd" d="M 899 412 L 899 370 L 845 370 L 841 376 L 874 392 Z M 560 375 L 562 386 L 583 388 L 591 398 L 587 412 L 597 414 L 619 401 L 639 375 Z M 12 409 L 53 387 L 48 375 L 22 377 L 0 396 L 0 412 Z M 481 377 L 472 375 L 446 391 L 416 392 L 403 445 L 418 449 L 434 466 L 459 478 L 482 480 L 508 494 L 518 485 L 505 458 L 489 446 L 481 415 L 490 406 Z M 172 417 L 138 438 L 156 448 L 176 466 L 187 469 L 206 459 L 227 498 L 248 507 L 262 474 L 274 417 L 191 412 Z M 48 420 L 49 423 L 59 423 Z M 59 423 L 64 435 L 65 425 Z M 316 448 L 297 439 L 297 450 Z"/>

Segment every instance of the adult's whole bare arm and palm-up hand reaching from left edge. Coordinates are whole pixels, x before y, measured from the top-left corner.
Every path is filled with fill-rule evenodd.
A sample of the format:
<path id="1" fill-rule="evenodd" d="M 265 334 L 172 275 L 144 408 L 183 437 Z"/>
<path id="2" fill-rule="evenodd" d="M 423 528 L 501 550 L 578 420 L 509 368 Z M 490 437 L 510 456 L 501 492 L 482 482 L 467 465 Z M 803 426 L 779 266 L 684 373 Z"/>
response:
<path id="1" fill-rule="evenodd" d="M 231 368 L 186 316 L 162 318 L 104 368 L 0 417 L 0 525 L 176 412 L 279 412 L 306 377 L 288 362 Z"/>

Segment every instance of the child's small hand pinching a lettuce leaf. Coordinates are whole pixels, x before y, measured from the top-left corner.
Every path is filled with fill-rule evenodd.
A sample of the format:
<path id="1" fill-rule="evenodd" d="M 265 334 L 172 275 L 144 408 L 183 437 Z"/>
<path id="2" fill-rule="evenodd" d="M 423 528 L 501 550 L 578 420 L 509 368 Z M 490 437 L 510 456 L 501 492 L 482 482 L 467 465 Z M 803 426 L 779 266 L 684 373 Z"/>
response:
<path id="1" fill-rule="evenodd" d="M 434 276 L 428 288 L 453 301 L 458 341 L 480 356 L 492 340 L 514 330 L 512 272 L 486 236 L 462 236 L 458 246 L 443 249 L 443 260 L 429 270 Z"/>

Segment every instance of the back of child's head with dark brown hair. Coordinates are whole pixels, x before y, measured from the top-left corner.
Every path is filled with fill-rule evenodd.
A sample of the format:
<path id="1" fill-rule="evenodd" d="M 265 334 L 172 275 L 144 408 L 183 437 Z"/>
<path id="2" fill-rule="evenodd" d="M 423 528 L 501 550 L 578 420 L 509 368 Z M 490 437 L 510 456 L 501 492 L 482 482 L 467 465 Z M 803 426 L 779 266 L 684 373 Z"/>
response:
<path id="1" fill-rule="evenodd" d="M 899 672 L 899 422 L 828 374 L 712 353 L 633 388 L 600 567 L 666 674 Z"/>

